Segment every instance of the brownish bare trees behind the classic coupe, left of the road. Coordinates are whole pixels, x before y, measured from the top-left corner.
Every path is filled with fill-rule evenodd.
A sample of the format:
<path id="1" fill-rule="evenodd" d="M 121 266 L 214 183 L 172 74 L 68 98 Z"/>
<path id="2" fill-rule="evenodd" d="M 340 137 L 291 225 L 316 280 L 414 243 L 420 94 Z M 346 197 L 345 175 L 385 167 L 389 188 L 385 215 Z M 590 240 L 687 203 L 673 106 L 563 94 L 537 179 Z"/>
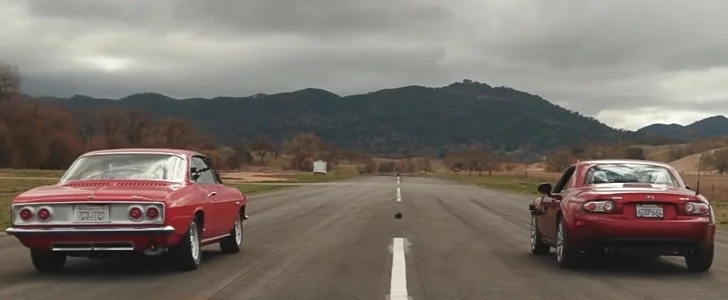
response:
<path id="1" fill-rule="evenodd" d="M 236 169 L 286 154 L 291 170 L 311 170 L 314 160 L 336 166 L 369 156 L 339 149 L 313 133 L 274 142 L 259 137 L 223 145 L 188 120 L 158 118 L 140 109 L 100 108 L 69 111 L 26 99 L 18 69 L 0 64 L 0 168 L 65 169 L 80 154 L 99 149 L 151 147 L 199 151 L 220 169 Z"/>

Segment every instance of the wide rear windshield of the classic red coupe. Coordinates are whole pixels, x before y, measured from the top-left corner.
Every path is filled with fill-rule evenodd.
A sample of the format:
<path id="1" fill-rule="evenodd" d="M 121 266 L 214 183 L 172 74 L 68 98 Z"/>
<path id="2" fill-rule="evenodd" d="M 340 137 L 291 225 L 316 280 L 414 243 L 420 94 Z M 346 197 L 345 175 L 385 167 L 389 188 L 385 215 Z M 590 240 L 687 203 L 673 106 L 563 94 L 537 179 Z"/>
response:
<path id="1" fill-rule="evenodd" d="M 170 154 L 101 154 L 83 156 L 68 168 L 61 182 L 69 180 L 164 180 L 183 181 L 185 160 Z"/>

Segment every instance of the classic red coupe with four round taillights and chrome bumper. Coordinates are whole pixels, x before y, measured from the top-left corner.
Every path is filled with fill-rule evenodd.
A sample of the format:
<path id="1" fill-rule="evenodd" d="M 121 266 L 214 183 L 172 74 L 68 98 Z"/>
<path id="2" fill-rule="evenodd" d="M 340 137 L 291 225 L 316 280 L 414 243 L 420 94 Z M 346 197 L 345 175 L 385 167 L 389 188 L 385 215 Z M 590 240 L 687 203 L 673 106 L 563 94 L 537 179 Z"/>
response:
<path id="1" fill-rule="evenodd" d="M 202 246 L 225 253 L 243 244 L 247 199 L 223 185 L 212 161 L 175 149 L 114 149 L 81 155 L 58 184 L 18 195 L 14 235 L 41 272 L 69 256 L 161 255 L 172 267 L 198 268 Z"/>

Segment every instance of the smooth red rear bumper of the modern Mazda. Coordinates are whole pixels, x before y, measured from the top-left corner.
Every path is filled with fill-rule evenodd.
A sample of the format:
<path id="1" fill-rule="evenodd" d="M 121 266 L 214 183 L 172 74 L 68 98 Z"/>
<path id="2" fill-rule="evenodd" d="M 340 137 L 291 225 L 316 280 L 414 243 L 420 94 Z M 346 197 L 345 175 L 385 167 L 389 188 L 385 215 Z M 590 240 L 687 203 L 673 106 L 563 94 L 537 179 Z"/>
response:
<path id="1" fill-rule="evenodd" d="M 625 220 L 589 216 L 575 220 L 570 238 L 584 250 L 628 254 L 685 255 L 713 242 L 707 218 Z"/>

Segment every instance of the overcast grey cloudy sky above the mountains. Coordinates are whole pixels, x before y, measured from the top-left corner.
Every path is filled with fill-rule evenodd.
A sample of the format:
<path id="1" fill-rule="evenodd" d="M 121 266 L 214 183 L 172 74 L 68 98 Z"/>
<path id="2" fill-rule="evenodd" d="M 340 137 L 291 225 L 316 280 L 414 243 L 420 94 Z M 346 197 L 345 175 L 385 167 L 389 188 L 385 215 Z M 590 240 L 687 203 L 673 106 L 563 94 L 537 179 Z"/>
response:
<path id="1" fill-rule="evenodd" d="M 725 0 L 0 0 L 34 95 L 340 95 L 468 78 L 621 128 L 728 114 Z"/>

